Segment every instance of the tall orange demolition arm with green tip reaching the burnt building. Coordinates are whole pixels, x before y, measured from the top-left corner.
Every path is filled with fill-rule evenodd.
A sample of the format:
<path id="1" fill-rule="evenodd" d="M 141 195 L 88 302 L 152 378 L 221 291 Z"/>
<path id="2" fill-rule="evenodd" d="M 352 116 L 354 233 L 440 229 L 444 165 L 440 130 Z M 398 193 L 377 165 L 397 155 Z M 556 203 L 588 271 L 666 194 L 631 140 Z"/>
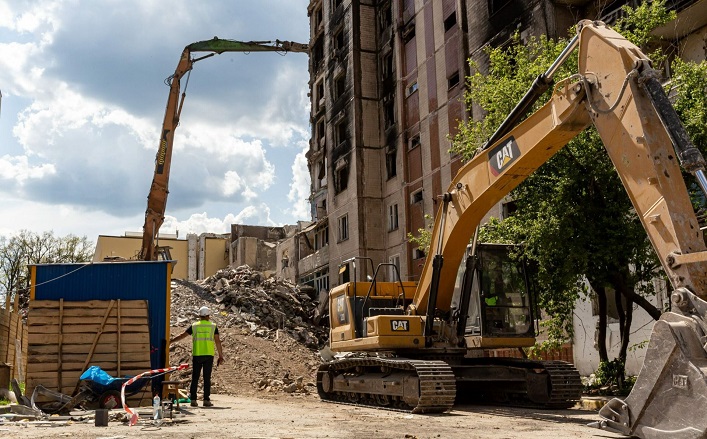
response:
<path id="1" fill-rule="evenodd" d="M 192 58 L 194 52 L 211 52 L 199 58 Z M 164 222 L 165 208 L 167 207 L 167 194 L 169 193 L 169 171 L 172 163 L 172 147 L 174 145 L 174 131 L 179 125 L 179 117 L 184 105 L 185 91 L 181 93 L 180 82 L 187 75 L 187 85 L 189 75 L 194 63 L 214 55 L 224 52 L 300 52 L 309 53 L 307 44 L 295 43 L 292 41 L 235 41 L 214 37 L 210 40 L 197 41 L 189 44 L 182 51 L 179 64 L 174 74 L 169 76 L 165 83 L 169 86 L 169 98 L 165 109 L 162 132 L 160 133 L 160 143 L 155 158 L 155 172 L 152 177 L 150 193 L 147 196 L 147 210 L 145 211 L 145 224 L 142 233 L 142 246 L 138 259 L 144 261 L 156 261 L 158 259 L 171 259 L 169 247 L 159 246 L 157 242 L 158 232 Z"/>

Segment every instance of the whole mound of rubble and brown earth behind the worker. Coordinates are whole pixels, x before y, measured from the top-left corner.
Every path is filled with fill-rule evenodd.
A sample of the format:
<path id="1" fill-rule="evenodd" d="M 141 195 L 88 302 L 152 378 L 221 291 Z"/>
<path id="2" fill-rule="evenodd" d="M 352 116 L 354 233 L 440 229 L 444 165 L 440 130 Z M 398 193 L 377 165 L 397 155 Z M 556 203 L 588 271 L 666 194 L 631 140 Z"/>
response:
<path id="1" fill-rule="evenodd" d="M 172 335 L 198 320 L 201 306 L 211 308 L 218 325 L 226 362 L 214 368 L 214 393 L 262 396 L 289 393 L 316 394 L 318 350 L 325 345 L 328 328 L 313 323 L 319 303 L 287 280 L 265 278 L 244 265 L 224 268 L 204 280 L 175 280 L 172 284 Z M 322 320 L 324 322 L 325 320 Z M 170 349 L 170 363 L 191 363 L 191 340 Z M 292 377 L 292 378 L 291 378 Z M 170 379 L 187 383 L 191 369 Z M 201 392 L 202 380 L 199 381 Z"/>

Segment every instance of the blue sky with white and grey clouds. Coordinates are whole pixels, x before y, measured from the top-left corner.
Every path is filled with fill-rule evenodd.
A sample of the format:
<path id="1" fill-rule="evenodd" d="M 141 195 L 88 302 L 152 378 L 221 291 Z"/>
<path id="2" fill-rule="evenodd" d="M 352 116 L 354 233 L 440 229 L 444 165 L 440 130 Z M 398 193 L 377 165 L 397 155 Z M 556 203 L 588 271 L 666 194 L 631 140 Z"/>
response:
<path id="1" fill-rule="evenodd" d="M 184 46 L 307 43 L 308 3 L 0 0 L 0 234 L 141 231 L 164 80 Z M 194 64 L 162 232 L 309 219 L 307 62 L 266 52 Z"/>

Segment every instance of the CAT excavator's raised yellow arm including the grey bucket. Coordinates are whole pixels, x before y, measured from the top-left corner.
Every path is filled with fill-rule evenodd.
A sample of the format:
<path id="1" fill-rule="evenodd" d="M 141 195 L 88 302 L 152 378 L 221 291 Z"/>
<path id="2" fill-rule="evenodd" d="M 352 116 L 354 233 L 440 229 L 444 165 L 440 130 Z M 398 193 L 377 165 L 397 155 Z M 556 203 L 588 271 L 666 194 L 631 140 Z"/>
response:
<path id="1" fill-rule="evenodd" d="M 707 252 L 680 169 L 706 192 L 705 161 L 640 49 L 603 23 L 584 21 L 579 29 L 572 43 L 578 75 L 559 82 L 520 124 L 519 114 L 509 117 L 440 197 L 435 255 L 408 313 L 426 314 L 429 337 L 434 310 L 452 303 L 454 273 L 489 208 L 593 124 L 674 288 L 673 311 L 656 322 L 633 391 L 610 401 L 593 426 L 646 439 L 707 437 Z"/>

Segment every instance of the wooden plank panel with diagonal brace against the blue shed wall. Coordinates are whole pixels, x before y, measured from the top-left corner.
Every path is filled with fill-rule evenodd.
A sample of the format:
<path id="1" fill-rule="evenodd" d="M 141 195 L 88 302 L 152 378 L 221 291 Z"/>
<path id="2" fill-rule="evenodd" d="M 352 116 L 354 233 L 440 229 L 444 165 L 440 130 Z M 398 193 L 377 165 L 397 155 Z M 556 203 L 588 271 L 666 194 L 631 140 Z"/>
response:
<path id="1" fill-rule="evenodd" d="M 28 395 L 39 384 L 71 395 L 89 366 L 114 377 L 151 369 L 146 300 L 34 300 L 27 323 Z"/>

